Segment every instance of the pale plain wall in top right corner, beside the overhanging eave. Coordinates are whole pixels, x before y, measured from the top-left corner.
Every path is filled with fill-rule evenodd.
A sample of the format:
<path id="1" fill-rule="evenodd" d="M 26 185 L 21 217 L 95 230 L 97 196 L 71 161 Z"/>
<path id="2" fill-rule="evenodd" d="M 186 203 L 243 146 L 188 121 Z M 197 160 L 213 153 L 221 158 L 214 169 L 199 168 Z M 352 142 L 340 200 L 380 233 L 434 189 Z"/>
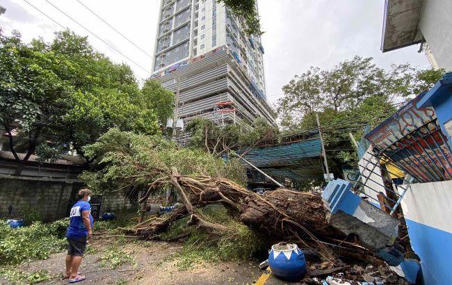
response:
<path id="1" fill-rule="evenodd" d="M 419 29 L 439 67 L 452 71 L 452 1 L 423 0 Z"/>

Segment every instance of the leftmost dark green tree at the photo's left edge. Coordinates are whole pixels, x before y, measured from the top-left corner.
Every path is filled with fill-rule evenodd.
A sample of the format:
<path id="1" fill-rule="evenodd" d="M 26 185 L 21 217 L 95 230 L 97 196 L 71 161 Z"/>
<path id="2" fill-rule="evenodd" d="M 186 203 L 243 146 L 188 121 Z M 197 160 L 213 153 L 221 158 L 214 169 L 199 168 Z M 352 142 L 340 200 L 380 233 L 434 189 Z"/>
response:
<path id="1" fill-rule="evenodd" d="M 0 31 L 0 120 L 17 161 L 27 161 L 42 142 L 44 120 L 55 120 L 67 107 L 62 99 L 70 86 L 49 69 L 55 61 L 54 54 L 23 44 L 18 33 L 6 37 Z"/>

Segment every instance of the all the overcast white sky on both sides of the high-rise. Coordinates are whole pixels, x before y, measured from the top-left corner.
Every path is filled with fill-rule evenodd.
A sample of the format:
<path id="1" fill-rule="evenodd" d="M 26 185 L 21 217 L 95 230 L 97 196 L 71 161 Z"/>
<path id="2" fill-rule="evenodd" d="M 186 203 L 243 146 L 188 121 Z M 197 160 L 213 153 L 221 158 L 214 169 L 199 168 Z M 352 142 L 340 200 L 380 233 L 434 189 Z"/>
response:
<path id="1" fill-rule="evenodd" d="M 129 60 L 97 40 L 83 28 L 61 14 L 45 0 L 27 0 L 63 26 L 88 40 L 99 51 L 115 62 L 128 63 L 138 78 L 149 76 Z M 152 70 L 152 58 L 124 40 L 102 23 L 76 0 L 49 0 L 122 51 L 139 65 Z M 158 0 L 80 0 L 114 26 L 118 31 L 152 55 L 158 18 Z M 383 19 L 383 0 L 258 0 L 261 24 L 266 33 L 263 44 L 266 51 L 266 84 L 268 99 L 275 102 L 282 86 L 295 74 L 309 66 L 330 68 L 353 56 L 372 56 L 376 63 L 389 68 L 391 63 L 411 62 L 427 66 L 418 47 L 410 47 L 382 54 L 380 37 Z M 0 16 L 0 26 L 6 33 L 13 29 L 22 33 L 25 41 L 41 36 L 46 41 L 54 38 L 54 31 L 62 28 L 40 14 L 22 0 L 3 0 L 7 10 Z"/>

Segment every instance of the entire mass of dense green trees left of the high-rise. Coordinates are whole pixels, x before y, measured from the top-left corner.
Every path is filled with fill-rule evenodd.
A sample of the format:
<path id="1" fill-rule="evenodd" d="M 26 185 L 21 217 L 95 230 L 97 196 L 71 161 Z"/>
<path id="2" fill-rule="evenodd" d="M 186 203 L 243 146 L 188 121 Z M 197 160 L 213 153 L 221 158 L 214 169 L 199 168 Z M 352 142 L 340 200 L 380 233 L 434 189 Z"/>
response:
<path id="1" fill-rule="evenodd" d="M 0 31 L 0 120 L 17 161 L 35 152 L 54 160 L 70 149 L 92 161 L 83 146 L 111 127 L 160 133 L 173 97 L 152 79 L 140 88 L 129 66 L 99 54 L 87 37 L 61 31 L 51 43 L 26 44 Z"/>

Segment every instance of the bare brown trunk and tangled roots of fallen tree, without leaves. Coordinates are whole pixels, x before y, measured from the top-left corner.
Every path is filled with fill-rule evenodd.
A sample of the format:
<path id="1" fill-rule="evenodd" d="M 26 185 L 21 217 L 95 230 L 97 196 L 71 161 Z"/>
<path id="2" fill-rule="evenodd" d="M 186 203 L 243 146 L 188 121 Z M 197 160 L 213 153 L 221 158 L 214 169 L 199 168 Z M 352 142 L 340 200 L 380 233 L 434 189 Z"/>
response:
<path id="1" fill-rule="evenodd" d="M 229 230 L 228 227 L 204 220 L 197 211 L 207 204 L 222 203 L 236 220 L 268 236 L 271 241 L 294 241 L 302 247 L 316 250 L 321 259 L 331 263 L 337 261 L 339 254 L 376 266 L 381 264 L 378 258 L 373 257 L 371 250 L 328 225 L 328 213 L 323 208 L 320 195 L 284 188 L 259 195 L 228 179 L 184 176 L 172 169 L 167 177 L 150 184 L 150 190 L 140 202 L 146 204 L 153 189 L 168 183 L 177 190 L 184 207 L 163 218 L 141 221 L 135 231 L 142 239 L 159 236 L 173 222 L 187 216 L 190 217 L 187 227 L 202 227 L 222 234 Z"/>

